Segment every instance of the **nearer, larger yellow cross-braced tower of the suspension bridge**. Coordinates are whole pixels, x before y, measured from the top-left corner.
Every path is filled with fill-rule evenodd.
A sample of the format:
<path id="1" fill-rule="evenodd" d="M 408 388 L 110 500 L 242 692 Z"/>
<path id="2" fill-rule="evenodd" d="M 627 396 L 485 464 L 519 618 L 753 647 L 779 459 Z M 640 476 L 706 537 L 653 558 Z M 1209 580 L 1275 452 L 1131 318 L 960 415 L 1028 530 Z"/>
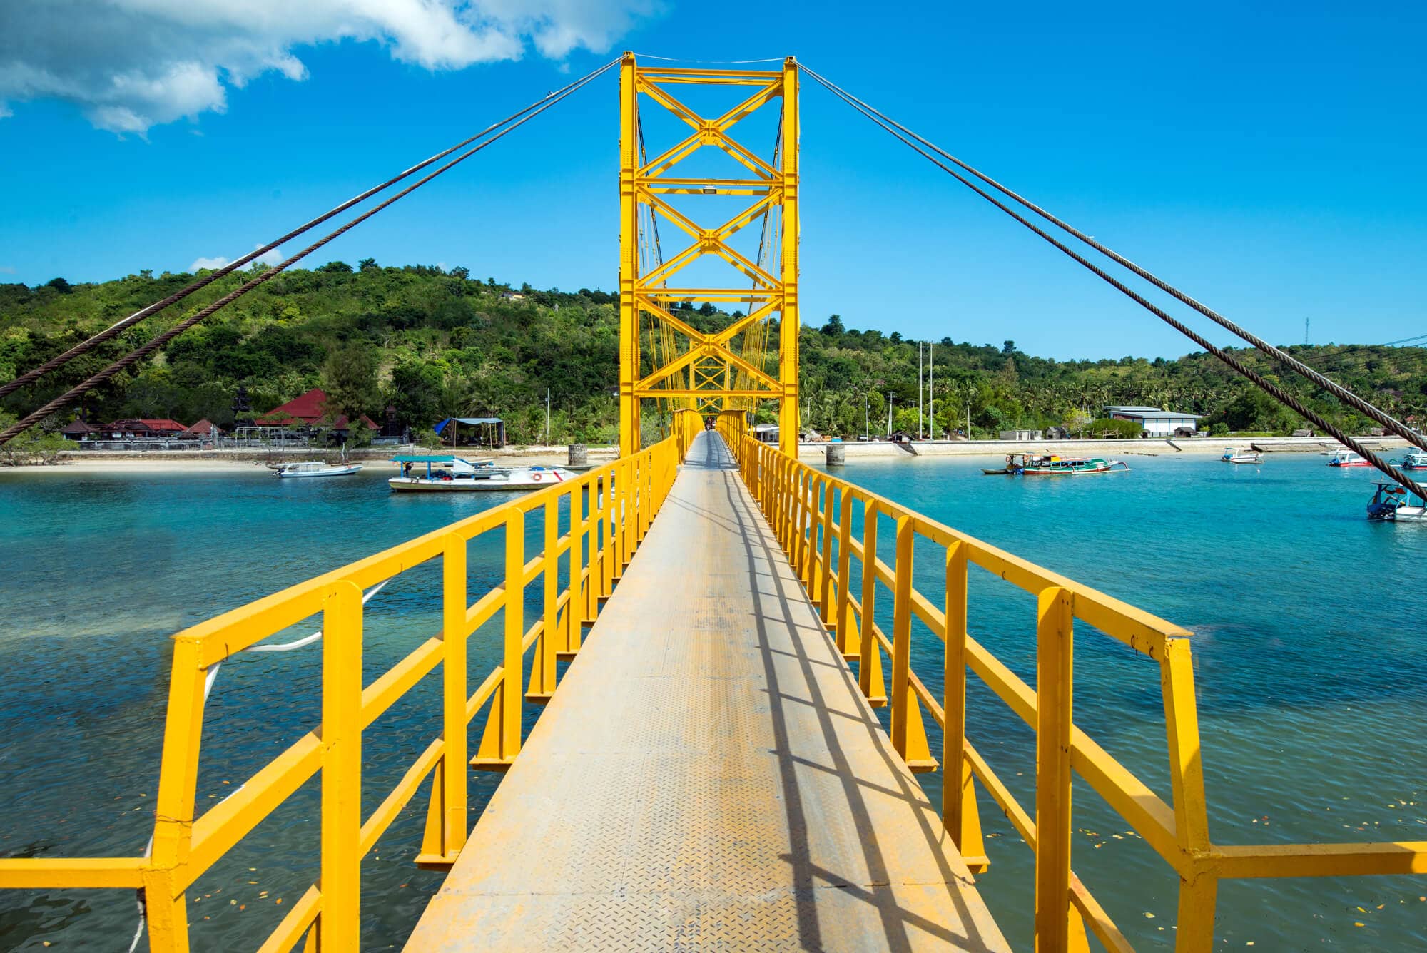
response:
<path id="1" fill-rule="evenodd" d="M 696 93 L 701 103 L 709 98 L 708 87 L 752 87 L 752 94 L 706 118 L 669 93 L 681 84 L 699 87 L 688 96 Z M 641 94 L 692 130 L 652 157 L 645 154 Z M 773 151 L 762 158 L 731 130 L 772 101 L 782 110 Z M 743 168 L 735 178 L 688 167 L 679 170 L 688 171 L 685 175 L 671 174 L 705 146 Z M 722 224 L 706 225 L 684 211 L 695 204 L 685 197 L 694 195 L 746 195 L 753 201 Z M 728 201 L 702 207 L 721 204 Z M 659 243 L 661 223 L 665 235 L 672 225 L 691 243 L 668 260 Z M 749 228 L 755 224 L 759 228 Z M 756 251 L 746 247 L 755 231 L 761 234 Z M 745 287 L 735 288 L 728 280 L 696 285 L 686 275 L 678 287 L 671 285 L 705 257 L 726 263 Z M 694 307 L 701 302 L 743 314 L 732 320 L 695 317 Z M 752 411 L 769 399 L 779 401 L 781 447 L 796 454 L 798 66 L 789 57 L 782 70 L 676 70 L 641 67 L 625 53 L 619 74 L 619 451 L 639 449 L 646 402 L 718 412 Z"/>

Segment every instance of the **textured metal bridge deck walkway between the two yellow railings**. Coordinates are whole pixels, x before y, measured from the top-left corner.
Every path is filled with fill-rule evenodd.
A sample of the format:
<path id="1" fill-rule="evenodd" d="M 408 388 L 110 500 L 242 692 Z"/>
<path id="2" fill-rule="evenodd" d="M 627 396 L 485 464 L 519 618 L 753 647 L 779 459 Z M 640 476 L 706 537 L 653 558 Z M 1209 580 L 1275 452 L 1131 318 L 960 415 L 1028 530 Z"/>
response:
<path id="1" fill-rule="evenodd" d="M 408 950 L 1007 949 L 702 434 Z"/>

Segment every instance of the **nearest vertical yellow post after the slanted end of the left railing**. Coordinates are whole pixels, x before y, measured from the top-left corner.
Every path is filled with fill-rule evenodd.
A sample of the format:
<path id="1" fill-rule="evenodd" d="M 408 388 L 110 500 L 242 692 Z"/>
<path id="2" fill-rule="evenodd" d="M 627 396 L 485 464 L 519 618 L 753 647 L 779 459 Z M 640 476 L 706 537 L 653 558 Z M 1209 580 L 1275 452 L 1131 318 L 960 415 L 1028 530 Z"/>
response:
<path id="1" fill-rule="evenodd" d="M 334 582 L 323 602 L 318 953 L 345 953 L 361 942 L 361 589 L 347 579 Z"/>

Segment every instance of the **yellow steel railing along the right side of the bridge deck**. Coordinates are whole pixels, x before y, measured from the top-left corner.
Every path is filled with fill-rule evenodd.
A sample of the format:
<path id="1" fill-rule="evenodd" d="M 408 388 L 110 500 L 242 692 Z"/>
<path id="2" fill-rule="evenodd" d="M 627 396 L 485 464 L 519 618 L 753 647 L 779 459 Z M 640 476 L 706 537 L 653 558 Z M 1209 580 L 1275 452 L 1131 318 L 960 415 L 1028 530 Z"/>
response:
<path id="1" fill-rule="evenodd" d="M 890 736 L 912 770 L 935 770 L 922 708 L 943 729 L 943 825 L 975 872 L 989 859 L 976 805 L 977 782 L 1035 850 L 1035 930 L 1040 950 L 1087 950 L 1085 927 L 1109 950 L 1132 950 L 1070 865 L 1073 775 L 1090 785 L 1179 875 L 1176 950 L 1213 947 L 1219 882 L 1232 877 L 1317 877 L 1427 873 L 1427 842 L 1216 845 L 1209 836 L 1189 632 L 1102 592 L 928 519 L 753 439 L 741 412 L 719 415 L 743 482 L 776 532 L 809 598 L 858 662 L 873 706 L 888 703 L 882 653 L 892 666 Z M 860 512 L 862 538 L 852 532 Z M 878 556 L 878 521 L 896 522 L 895 559 Z M 912 585 L 918 538 L 945 552 L 945 592 L 933 601 Z M 860 572 L 852 572 L 852 556 Z M 966 632 L 969 566 L 1037 596 L 1036 685 L 1032 689 Z M 892 592 L 892 635 L 876 623 L 878 583 Z M 858 595 L 855 595 L 858 593 Z M 860 596 L 860 598 L 859 598 Z M 940 602 L 940 606 L 938 605 Z M 945 693 L 936 698 L 910 668 L 912 618 L 945 643 Z M 1075 726 L 1072 646 L 1076 619 L 1159 663 L 1173 805 L 1156 795 Z M 1022 806 L 966 739 L 970 671 L 1036 732 L 1036 797 Z"/>

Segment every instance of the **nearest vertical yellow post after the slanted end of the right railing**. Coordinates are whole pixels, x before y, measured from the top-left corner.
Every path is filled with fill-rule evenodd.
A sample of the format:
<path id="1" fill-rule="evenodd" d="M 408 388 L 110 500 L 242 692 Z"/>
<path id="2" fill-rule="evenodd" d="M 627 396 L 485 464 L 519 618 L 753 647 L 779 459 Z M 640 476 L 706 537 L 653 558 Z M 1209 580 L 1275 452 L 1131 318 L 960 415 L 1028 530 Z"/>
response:
<path id="1" fill-rule="evenodd" d="M 1073 596 L 1046 586 L 1036 621 L 1036 950 L 1070 943 Z"/>

